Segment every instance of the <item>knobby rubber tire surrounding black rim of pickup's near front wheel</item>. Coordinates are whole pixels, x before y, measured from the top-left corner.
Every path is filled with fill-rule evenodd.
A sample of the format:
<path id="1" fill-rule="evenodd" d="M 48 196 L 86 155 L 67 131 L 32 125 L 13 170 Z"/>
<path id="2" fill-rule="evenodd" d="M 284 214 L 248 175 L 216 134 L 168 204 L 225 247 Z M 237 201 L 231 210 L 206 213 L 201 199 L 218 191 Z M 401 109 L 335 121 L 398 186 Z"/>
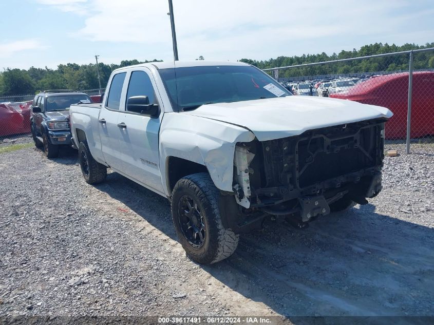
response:
<path id="1" fill-rule="evenodd" d="M 178 207 L 180 200 L 185 196 L 192 197 L 203 214 L 205 238 L 200 248 L 193 247 L 181 230 Z M 173 189 L 172 218 L 179 242 L 188 257 L 202 264 L 216 263 L 228 258 L 238 246 L 239 235 L 223 227 L 220 199 L 219 190 L 206 173 L 185 176 Z"/>

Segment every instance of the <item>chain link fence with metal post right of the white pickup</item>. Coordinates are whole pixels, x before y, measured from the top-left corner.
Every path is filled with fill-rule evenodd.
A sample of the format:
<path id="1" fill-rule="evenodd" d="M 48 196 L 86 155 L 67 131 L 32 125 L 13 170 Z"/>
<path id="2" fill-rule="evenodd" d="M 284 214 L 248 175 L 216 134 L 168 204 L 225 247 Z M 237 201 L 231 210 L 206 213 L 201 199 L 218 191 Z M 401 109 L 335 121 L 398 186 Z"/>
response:
<path id="1" fill-rule="evenodd" d="M 434 154 L 434 48 L 264 69 L 294 95 L 389 108 L 386 149 Z M 374 72 L 372 72 L 374 71 Z"/>

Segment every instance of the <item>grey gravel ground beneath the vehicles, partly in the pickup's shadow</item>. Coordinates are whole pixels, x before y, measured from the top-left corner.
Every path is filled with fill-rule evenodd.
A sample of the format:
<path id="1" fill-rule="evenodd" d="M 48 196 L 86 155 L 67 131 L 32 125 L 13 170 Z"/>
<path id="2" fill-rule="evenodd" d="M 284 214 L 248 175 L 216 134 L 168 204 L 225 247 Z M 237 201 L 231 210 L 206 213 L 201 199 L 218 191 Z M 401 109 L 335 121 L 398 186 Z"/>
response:
<path id="1" fill-rule="evenodd" d="M 185 257 L 166 199 L 117 173 L 88 185 L 76 156 L 0 156 L 0 317 L 434 316 L 432 154 L 386 157 L 369 204 L 268 221 L 211 266 Z"/>

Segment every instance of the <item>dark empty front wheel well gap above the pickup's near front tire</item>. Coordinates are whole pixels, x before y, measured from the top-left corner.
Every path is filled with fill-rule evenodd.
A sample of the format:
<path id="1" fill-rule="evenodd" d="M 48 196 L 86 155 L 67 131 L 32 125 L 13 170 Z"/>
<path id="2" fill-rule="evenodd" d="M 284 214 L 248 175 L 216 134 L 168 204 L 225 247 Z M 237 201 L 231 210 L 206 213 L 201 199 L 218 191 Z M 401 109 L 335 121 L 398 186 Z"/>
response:
<path id="1" fill-rule="evenodd" d="M 206 166 L 190 160 L 178 157 L 167 157 L 167 186 L 169 187 L 171 193 L 176 182 L 178 182 L 184 176 L 196 173 L 208 173 L 208 170 L 206 169 Z"/>

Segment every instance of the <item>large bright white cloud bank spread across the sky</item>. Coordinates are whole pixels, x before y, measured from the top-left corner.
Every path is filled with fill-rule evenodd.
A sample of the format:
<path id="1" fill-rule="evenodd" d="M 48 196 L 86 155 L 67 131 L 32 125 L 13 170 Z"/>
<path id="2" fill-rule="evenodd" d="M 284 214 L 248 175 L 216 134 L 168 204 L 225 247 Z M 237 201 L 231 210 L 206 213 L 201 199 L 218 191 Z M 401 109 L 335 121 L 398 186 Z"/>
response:
<path id="1" fill-rule="evenodd" d="M 86 7 L 87 14 L 80 22 L 84 27 L 71 32 L 70 37 L 117 48 L 137 44 L 143 58 L 171 59 L 165 0 L 38 1 L 63 10 Z M 431 40 L 421 41 L 422 28 L 419 31 L 418 25 L 409 24 L 415 18 L 430 19 L 426 13 L 432 8 L 419 6 L 418 1 L 395 0 L 391 6 L 377 0 L 306 1 L 296 5 L 281 0 L 174 0 L 179 55 L 183 60 L 199 55 L 215 60 L 267 59 L 331 53 L 343 49 L 343 45 L 351 50 L 374 42 L 425 43 Z M 421 9 L 414 11 L 418 6 Z"/>

